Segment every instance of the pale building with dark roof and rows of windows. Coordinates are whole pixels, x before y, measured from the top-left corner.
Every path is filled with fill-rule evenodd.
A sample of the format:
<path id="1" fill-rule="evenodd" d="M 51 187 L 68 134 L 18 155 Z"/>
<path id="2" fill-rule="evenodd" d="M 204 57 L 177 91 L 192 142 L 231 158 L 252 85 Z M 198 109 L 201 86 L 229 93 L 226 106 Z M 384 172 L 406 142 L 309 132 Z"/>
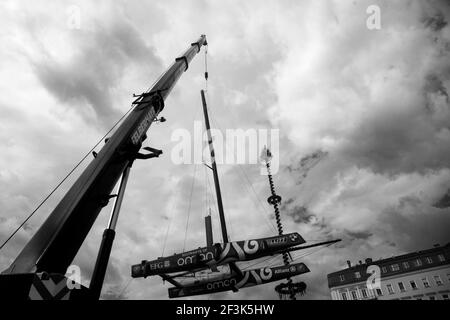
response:
<path id="1" fill-rule="evenodd" d="M 349 261 L 347 264 L 348 268 L 327 276 L 332 300 L 450 299 L 450 243 L 378 261 L 366 259 L 354 266 Z"/>

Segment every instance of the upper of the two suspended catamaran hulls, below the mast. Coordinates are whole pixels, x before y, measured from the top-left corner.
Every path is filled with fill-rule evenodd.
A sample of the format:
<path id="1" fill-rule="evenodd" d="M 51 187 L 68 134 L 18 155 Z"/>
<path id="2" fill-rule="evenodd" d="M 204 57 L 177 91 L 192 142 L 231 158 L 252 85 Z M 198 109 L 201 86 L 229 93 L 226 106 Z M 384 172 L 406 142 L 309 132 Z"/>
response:
<path id="1" fill-rule="evenodd" d="M 147 277 L 201 268 L 236 261 L 262 258 L 290 247 L 305 243 L 297 232 L 256 240 L 236 241 L 199 248 L 153 261 L 142 261 L 131 267 L 133 278 Z"/>

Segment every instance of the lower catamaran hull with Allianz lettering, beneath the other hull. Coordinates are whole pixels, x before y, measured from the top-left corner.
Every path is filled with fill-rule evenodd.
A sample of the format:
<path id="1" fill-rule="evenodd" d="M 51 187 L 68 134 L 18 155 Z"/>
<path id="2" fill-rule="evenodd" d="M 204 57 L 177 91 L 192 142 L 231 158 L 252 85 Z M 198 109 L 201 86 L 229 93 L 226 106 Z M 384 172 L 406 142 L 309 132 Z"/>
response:
<path id="1" fill-rule="evenodd" d="M 240 288 L 253 287 L 283 280 L 310 270 L 304 263 L 296 263 L 275 268 L 262 268 L 244 271 L 242 276 L 228 275 L 216 280 L 203 280 L 182 288 L 169 288 L 169 298 L 182 298 L 194 295 L 211 294 L 224 291 L 237 291 Z"/>

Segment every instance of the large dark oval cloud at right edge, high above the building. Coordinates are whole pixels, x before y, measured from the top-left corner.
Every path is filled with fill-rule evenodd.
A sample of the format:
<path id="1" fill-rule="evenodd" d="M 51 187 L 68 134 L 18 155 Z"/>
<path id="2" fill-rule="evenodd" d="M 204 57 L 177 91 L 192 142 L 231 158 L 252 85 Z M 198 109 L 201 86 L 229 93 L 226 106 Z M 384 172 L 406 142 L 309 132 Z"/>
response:
<path id="1" fill-rule="evenodd" d="M 445 98 L 446 108 L 450 110 L 448 97 Z M 431 99 L 427 97 L 424 101 L 424 110 L 427 105 L 435 105 Z M 395 104 L 391 108 L 393 112 L 374 116 L 352 134 L 342 150 L 344 157 L 383 174 L 449 168 L 448 141 L 439 133 L 450 127 L 450 113 L 444 110 L 442 117 L 435 120 L 420 109 L 394 111 Z"/>

